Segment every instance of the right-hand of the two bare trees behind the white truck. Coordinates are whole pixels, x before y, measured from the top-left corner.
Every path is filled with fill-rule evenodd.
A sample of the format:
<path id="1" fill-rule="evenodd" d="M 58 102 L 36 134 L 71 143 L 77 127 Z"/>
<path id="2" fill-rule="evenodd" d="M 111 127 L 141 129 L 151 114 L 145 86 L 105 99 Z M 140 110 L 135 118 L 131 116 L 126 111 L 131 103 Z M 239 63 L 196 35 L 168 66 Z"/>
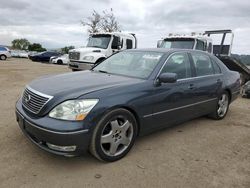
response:
<path id="1" fill-rule="evenodd" d="M 101 28 L 104 32 L 121 32 L 121 27 L 116 20 L 113 9 L 110 9 L 110 12 L 107 10 L 103 11 L 103 17 L 101 19 Z"/>

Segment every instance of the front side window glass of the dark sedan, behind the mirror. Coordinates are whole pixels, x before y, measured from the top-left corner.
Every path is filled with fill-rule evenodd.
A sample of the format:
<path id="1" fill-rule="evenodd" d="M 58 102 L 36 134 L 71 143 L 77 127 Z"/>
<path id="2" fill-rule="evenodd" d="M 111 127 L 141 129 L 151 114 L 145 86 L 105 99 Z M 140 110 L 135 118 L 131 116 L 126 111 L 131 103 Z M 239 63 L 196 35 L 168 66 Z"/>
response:
<path id="1" fill-rule="evenodd" d="M 161 73 L 176 73 L 177 79 L 191 77 L 191 67 L 186 53 L 177 53 L 170 56 Z"/>

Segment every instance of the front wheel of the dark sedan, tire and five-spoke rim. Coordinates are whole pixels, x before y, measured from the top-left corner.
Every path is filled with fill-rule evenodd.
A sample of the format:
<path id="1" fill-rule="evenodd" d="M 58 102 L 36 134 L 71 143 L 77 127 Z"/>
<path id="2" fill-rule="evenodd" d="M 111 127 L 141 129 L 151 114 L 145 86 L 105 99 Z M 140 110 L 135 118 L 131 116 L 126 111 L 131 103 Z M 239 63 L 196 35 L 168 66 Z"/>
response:
<path id="1" fill-rule="evenodd" d="M 134 115 L 125 109 L 107 113 L 94 129 L 90 152 L 99 160 L 113 162 L 132 148 L 138 126 Z"/>

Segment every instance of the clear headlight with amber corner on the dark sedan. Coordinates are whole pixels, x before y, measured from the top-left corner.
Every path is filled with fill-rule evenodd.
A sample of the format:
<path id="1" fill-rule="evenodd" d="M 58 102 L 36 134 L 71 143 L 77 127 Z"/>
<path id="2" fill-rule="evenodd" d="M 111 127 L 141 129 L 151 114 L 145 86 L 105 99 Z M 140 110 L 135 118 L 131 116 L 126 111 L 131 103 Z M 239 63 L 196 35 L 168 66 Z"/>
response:
<path id="1" fill-rule="evenodd" d="M 98 101 L 98 99 L 68 100 L 53 108 L 49 113 L 49 117 L 80 121 L 88 115 Z"/>

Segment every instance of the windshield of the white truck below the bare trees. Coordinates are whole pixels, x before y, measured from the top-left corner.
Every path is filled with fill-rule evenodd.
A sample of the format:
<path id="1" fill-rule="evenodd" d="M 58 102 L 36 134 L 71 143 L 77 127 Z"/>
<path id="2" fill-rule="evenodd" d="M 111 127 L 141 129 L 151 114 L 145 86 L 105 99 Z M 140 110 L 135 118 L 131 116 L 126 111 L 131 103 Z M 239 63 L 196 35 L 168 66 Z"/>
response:
<path id="1" fill-rule="evenodd" d="M 87 47 L 108 48 L 110 35 L 93 35 L 89 37 Z"/>

